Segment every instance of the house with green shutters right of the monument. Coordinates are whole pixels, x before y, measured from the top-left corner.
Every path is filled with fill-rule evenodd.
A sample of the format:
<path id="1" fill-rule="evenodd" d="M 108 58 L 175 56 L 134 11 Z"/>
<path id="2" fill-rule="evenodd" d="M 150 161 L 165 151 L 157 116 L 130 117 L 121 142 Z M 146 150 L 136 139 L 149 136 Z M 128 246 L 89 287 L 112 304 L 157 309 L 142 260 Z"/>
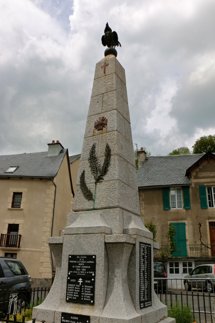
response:
<path id="1" fill-rule="evenodd" d="M 161 257 L 160 249 L 155 257 L 165 263 L 168 277 L 215 263 L 215 154 L 148 157 L 142 150 L 138 162 L 141 216 L 156 224 L 161 249 L 168 250 L 168 226 L 177 230 L 177 251 Z"/>

